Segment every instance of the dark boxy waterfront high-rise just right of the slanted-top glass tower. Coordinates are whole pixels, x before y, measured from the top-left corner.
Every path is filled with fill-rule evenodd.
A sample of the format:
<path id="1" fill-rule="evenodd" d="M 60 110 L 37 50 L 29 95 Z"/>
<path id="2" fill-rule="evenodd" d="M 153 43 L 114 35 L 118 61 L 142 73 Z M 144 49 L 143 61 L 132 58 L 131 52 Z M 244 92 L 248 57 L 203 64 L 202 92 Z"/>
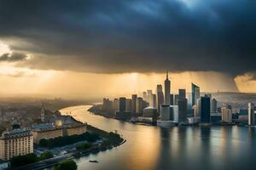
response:
<path id="1" fill-rule="evenodd" d="M 201 97 L 201 122 L 211 122 L 211 102 L 207 95 Z"/>

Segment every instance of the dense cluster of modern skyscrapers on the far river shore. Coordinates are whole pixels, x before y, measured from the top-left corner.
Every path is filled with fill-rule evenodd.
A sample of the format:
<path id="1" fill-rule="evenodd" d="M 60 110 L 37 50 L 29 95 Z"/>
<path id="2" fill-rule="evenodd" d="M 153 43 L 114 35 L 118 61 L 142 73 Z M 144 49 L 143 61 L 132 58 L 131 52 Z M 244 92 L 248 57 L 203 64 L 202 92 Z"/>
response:
<path id="1" fill-rule="evenodd" d="M 143 92 L 143 97 L 132 94 L 131 99 L 119 98 L 113 101 L 103 99 L 102 108 L 113 102 L 115 118 L 131 122 L 157 120 L 159 126 L 232 124 L 243 119 L 242 114 L 238 116 L 233 113 L 231 105 L 218 104 L 218 100 L 213 98 L 212 94 L 201 95 L 200 87 L 195 83 L 191 83 L 191 94 L 187 93 L 185 88 L 179 88 L 177 94 L 171 94 L 171 81 L 166 72 L 164 84 L 165 93 L 162 85 L 157 84 L 155 94 L 148 89 Z M 253 126 L 253 104 L 249 104 L 249 108 L 251 109 L 244 111 L 246 116 L 244 119 L 247 120 L 248 125 Z"/>

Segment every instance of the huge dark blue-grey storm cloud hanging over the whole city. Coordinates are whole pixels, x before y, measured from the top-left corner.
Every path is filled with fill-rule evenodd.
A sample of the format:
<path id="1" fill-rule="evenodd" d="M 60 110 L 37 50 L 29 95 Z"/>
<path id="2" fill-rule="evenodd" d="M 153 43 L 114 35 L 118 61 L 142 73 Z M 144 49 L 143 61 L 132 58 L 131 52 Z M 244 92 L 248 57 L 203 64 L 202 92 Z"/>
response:
<path id="1" fill-rule="evenodd" d="M 32 54 L 32 68 L 237 75 L 255 71 L 255 8 L 252 0 L 1 0 L 0 37 Z"/>

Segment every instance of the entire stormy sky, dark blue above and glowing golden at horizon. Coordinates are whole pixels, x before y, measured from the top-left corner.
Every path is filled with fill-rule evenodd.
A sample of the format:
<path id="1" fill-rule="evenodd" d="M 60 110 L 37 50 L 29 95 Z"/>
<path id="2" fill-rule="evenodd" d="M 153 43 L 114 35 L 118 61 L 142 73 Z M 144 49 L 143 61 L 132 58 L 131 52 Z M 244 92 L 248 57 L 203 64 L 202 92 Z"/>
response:
<path id="1" fill-rule="evenodd" d="M 253 0 L 0 0 L 0 94 L 256 92 Z M 125 88 L 124 88 L 125 87 Z"/>

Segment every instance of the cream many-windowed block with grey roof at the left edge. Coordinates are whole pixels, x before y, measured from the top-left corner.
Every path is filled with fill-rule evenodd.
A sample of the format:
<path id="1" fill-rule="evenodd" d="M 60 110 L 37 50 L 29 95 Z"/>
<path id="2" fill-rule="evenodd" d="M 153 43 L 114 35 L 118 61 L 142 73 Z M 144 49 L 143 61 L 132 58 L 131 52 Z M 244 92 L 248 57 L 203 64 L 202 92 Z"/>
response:
<path id="1" fill-rule="evenodd" d="M 0 159 L 5 161 L 33 153 L 32 131 L 18 128 L 5 132 L 0 137 L 0 146 Z"/>

